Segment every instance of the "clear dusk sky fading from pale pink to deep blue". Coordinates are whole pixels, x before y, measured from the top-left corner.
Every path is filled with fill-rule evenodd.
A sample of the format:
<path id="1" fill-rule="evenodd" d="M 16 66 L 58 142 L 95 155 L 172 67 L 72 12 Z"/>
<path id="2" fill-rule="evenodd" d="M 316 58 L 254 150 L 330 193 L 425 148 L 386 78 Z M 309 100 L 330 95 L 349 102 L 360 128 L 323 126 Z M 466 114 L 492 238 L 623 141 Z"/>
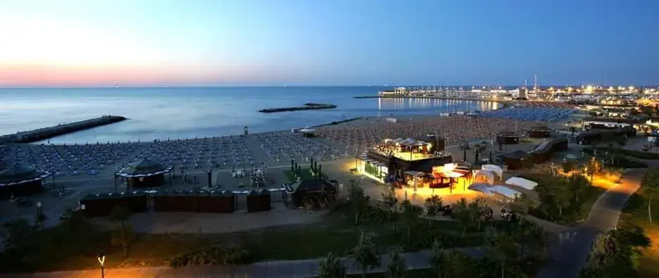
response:
<path id="1" fill-rule="evenodd" d="M 659 84 L 657 0 L 0 0 L 0 86 Z"/>

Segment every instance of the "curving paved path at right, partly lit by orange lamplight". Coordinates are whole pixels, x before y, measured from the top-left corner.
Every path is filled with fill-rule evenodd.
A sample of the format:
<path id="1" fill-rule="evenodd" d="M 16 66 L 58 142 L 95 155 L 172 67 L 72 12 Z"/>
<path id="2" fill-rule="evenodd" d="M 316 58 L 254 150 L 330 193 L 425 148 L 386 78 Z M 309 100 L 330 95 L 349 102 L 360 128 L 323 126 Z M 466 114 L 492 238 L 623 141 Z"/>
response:
<path id="1" fill-rule="evenodd" d="M 620 210 L 625 208 L 627 198 L 641 187 L 644 171 L 645 169 L 626 170 L 617 187 L 608 189 L 598 198 L 583 225 L 561 233 L 561 242 L 553 246 L 549 254 L 553 260 L 550 260 L 536 277 L 579 277 L 595 236 L 616 227 Z"/>

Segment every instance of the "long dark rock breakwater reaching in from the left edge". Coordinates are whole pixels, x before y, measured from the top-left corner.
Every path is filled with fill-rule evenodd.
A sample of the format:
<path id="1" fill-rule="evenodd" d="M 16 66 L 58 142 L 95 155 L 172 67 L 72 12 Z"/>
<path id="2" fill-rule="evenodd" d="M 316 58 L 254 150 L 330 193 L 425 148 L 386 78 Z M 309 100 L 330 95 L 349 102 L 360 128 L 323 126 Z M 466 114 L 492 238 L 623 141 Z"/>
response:
<path id="1" fill-rule="evenodd" d="M 104 115 L 99 118 L 81 120 L 79 122 L 70 122 L 68 124 L 56 125 L 53 127 L 44 127 L 26 132 L 16 132 L 15 134 L 4 135 L 0 137 L 0 143 L 30 143 L 34 141 L 41 141 L 63 134 L 78 132 L 84 129 L 100 127 L 101 125 L 110 125 L 112 123 L 121 122 L 123 120 L 126 120 L 126 118 L 122 116 Z"/>

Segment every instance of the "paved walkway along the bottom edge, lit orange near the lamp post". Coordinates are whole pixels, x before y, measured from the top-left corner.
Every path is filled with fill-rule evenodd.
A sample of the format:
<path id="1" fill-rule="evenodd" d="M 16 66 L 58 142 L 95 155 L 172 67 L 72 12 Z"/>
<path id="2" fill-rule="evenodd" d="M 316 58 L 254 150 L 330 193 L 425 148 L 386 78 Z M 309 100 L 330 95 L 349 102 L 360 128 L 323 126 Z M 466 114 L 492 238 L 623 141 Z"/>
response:
<path id="1" fill-rule="evenodd" d="M 479 248 L 460 248 L 463 253 L 475 258 L 482 256 Z M 418 270 L 430 267 L 430 251 L 403 254 L 408 269 Z M 360 274 L 351 258 L 343 258 L 348 274 Z M 381 265 L 389 263 L 389 255 L 382 255 Z M 384 272 L 384 267 L 377 267 L 372 272 Z M 280 260 L 251 265 L 220 266 L 203 265 L 199 267 L 139 267 L 122 268 L 105 271 L 108 278 L 310 278 L 318 276 L 318 260 Z M 100 278 L 101 270 L 80 270 L 66 272 L 44 272 L 37 274 L 4 274 L 0 278 Z"/>

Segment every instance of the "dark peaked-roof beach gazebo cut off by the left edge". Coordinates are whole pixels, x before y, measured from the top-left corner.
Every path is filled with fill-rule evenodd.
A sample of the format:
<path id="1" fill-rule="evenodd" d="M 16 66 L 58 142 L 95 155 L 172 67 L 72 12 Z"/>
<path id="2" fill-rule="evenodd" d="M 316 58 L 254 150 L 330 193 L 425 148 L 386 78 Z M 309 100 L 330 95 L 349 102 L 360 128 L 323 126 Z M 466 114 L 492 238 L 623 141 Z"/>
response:
<path id="1" fill-rule="evenodd" d="M 28 196 L 44 191 L 43 184 L 50 172 L 41 172 L 24 165 L 14 164 L 0 170 L 0 198 Z M 55 182 L 53 176 L 53 183 Z"/>

